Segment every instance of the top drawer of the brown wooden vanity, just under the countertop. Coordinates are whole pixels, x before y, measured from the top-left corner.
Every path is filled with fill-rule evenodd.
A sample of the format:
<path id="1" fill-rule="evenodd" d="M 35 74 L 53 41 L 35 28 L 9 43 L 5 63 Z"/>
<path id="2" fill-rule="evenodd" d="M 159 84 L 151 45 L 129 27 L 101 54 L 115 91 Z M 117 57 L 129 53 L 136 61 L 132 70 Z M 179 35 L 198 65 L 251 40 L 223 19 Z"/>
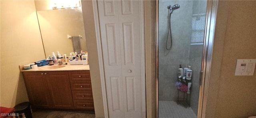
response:
<path id="1" fill-rule="evenodd" d="M 70 81 L 91 81 L 90 71 L 69 71 Z"/>

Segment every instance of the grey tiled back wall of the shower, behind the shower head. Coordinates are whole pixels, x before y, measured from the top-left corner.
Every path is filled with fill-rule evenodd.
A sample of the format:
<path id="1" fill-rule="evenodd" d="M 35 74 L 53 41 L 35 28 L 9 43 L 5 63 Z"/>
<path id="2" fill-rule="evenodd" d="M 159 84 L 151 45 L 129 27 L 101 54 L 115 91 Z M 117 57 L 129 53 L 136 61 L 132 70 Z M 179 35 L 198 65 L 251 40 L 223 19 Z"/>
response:
<path id="1" fill-rule="evenodd" d="M 171 16 L 172 49 L 166 50 L 168 33 L 168 5 L 179 4 Z M 189 64 L 191 23 L 193 1 L 160 0 L 159 1 L 159 55 L 158 55 L 158 100 L 176 101 L 177 70 L 179 64 Z M 170 44 L 170 37 L 168 39 Z M 168 45 L 170 46 L 170 45 Z"/>

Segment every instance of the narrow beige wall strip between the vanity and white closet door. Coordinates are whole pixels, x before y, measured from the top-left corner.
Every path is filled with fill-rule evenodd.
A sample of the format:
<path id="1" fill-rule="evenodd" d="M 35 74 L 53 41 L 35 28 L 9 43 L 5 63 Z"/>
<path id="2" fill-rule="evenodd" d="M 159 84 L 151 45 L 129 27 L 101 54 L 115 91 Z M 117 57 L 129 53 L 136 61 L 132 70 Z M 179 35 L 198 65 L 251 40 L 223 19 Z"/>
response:
<path id="1" fill-rule="evenodd" d="M 90 75 L 92 82 L 95 117 L 104 118 L 103 99 L 100 82 L 100 68 L 91 0 L 82 0 L 82 11 L 84 17 L 86 42 L 87 44 L 90 44 L 87 45 L 87 50 L 90 62 Z"/>

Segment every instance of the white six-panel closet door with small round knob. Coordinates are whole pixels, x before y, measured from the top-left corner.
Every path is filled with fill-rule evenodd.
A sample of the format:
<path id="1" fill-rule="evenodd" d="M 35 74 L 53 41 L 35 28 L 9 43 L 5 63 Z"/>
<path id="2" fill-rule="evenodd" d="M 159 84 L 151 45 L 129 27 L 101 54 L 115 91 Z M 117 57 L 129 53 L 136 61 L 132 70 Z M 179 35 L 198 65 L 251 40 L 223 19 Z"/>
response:
<path id="1" fill-rule="evenodd" d="M 142 118 L 143 2 L 97 2 L 109 117 Z"/>

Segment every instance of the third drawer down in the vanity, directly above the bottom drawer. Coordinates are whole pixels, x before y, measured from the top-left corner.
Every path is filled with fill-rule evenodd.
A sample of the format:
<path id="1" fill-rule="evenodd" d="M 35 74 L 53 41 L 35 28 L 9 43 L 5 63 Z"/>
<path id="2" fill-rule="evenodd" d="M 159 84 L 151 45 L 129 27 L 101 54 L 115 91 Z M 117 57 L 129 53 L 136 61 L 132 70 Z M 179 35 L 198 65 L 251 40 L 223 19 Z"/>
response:
<path id="1" fill-rule="evenodd" d="M 73 100 L 93 100 L 92 91 L 72 91 Z"/>

